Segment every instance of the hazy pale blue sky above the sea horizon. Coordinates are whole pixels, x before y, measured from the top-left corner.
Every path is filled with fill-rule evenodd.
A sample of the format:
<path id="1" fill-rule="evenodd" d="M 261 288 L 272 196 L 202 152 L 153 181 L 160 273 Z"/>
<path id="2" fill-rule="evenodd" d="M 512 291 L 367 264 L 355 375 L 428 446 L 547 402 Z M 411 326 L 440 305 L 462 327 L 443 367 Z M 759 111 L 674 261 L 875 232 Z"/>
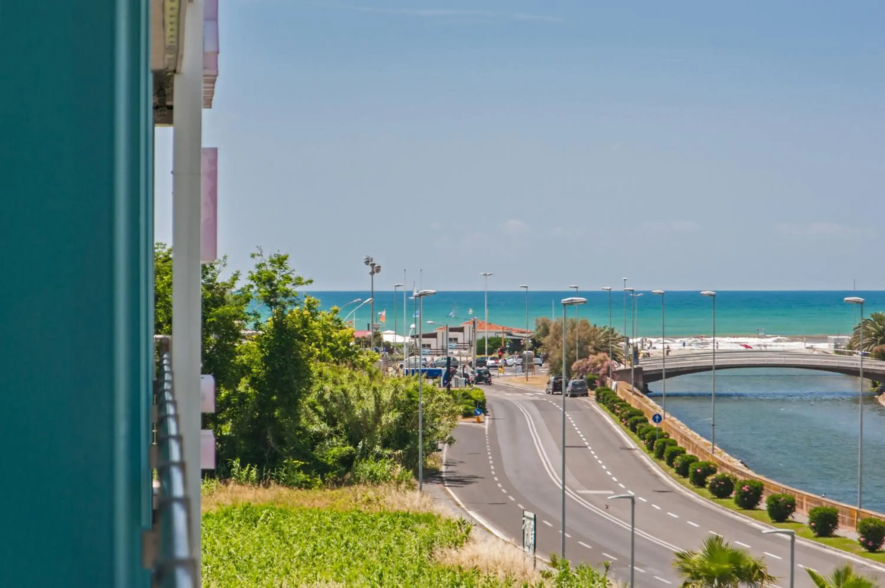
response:
<path id="1" fill-rule="evenodd" d="M 388 288 L 885 289 L 883 21 L 879 0 L 223 0 L 219 251 L 287 252 L 314 290 L 365 290 L 366 255 Z"/>

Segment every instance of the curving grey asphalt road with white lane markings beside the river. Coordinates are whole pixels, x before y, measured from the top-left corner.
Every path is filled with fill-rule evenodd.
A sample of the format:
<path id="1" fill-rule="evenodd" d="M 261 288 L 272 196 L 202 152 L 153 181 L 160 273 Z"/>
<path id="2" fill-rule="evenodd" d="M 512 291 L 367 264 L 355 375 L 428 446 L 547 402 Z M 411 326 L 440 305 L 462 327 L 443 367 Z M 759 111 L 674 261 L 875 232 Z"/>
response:
<path id="1" fill-rule="evenodd" d="M 537 514 L 537 553 L 559 553 L 562 411 L 560 396 L 500 384 L 484 389 L 485 424 L 462 423 L 446 449 L 445 484 L 478 521 L 519 545 L 522 510 Z M 600 565 L 627 581 L 630 501 L 636 496 L 635 584 L 678 585 L 673 551 L 711 533 L 765 557 L 778 585 L 789 586 L 789 539 L 762 535 L 750 522 L 673 482 L 602 413 L 592 398 L 566 398 L 566 559 Z M 803 567 L 828 572 L 850 561 L 880 583 L 885 566 L 797 539 L 796 585 L 812 588 Z"/>

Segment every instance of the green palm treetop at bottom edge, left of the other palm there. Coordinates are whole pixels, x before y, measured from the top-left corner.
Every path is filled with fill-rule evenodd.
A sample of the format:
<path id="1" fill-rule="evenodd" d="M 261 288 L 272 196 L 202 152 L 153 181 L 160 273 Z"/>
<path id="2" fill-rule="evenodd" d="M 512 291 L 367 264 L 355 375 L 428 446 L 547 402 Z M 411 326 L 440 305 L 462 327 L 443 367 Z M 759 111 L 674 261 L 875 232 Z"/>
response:
<path id="1" fill-rule="evenodd" d="M 673 568 L 681 576 L 681 588 L 762 588 L 774 584 L 761 558 L 728 545 L 720 536 L 704 539 L 699 551 L 676 553 Z"/>

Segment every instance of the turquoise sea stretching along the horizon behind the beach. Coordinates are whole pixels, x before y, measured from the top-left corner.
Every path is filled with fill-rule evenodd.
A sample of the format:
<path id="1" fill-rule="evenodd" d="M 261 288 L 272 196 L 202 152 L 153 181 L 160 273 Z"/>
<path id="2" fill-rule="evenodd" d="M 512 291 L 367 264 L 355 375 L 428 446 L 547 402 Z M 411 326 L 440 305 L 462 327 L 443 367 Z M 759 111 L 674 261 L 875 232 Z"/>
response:
<path id="1" fill-rule="evenodd" d="M 638 290 L 643 291 L 643 290 Z M 368 291 L 312 291 L 322 306 L 342 306 L 354 298 L 369 298 Z M 579 291 L 587 298 L 587 305 L 579 308 L 581 317 L 598 324 L 608 324 L 609 297 L 601 290 Z M 559 300 L 574 296 L 573 290 L 528 292 L 528 324 L 534 328 L 535 317 L 562 316 Z M 882 291 L 720 291 L 716 297 L 716 332 L 718 336 L 756 335 L 763 329 L 766 336 L 815 337 L 850 333 L 858 321 L 855 305 L 843 302 L 846 296 L 866 298 L 864 313 L 885 311 L 885 292 Z M 641 337 L 660 337 L 660 297 L 643 291 L 638 298 L 637 328 Z M 413 301 L 406 299 L 405 328 L 403 326 L 403 292 L 396 296 L 396 331 L 408 332 L 412 323 Z M 630 300 L 627 297 L 627 331 L 631 330 Z M 357 305 L 347 306 L 350 313 Z M 375 312 L 386 311 L 385 329 L 394 329 L 394 292 L 375 290 Z M 473 310 L 473 314 L 470 310 Z M 449 317 L 454 313 L 454 317 Z M 424 299 L 425 321 L 459 324 L 473 316 L 483 318 L 483 291 L 440 291 Z M 569 312 L 570 316 L 574 311 Z M 367 329 L 369 305 L 358 309 L 358 329 Z M 523 291 L 489 291 L 489 322 L 506 327 L 526 327 L 526 294 Z M 624 297 L 622 291 L 612 290 L 612 324 L 624 330 Z M 709 336 L 712 333 L 712 300 L 695 291 L 668 291 L 666 293 L 667 337 Z"/>

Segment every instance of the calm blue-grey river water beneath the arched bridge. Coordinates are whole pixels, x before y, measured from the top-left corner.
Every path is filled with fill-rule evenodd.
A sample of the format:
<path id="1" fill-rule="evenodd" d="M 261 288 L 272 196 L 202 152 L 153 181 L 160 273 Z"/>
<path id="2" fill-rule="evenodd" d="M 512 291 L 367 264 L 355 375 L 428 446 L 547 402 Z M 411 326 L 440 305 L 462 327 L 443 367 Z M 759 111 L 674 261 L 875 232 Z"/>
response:
<path id="1" fill-rule="evenodd" d="M 667 378 L 666 407 L 710 438 L 709 372 Z M 658 404 L 661 383 L 649 386 Z M 773 480 L 854 505 L 858 499 L 858 378 L 805 369 L 716 372 L 716 443 Z M 863 506 L 885 513 L 885 406 L 864 406 Z"/>

